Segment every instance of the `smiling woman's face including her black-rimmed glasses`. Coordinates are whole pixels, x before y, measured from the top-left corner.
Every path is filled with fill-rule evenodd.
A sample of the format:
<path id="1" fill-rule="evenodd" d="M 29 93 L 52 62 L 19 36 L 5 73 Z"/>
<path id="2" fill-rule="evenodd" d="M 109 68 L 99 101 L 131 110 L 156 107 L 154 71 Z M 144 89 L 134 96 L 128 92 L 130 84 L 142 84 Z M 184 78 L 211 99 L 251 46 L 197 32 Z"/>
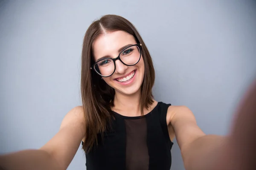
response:
<path id="1" fill-rule="evenodd" d="M 103 77 L 104 81 L 116 92 L 122 94 L 133 94 L 138 91 L 141 87 L 144 77 L 144 53 L 140 52 L 141 48 L 145 48 L 145 45 L 136 44 L 134 36 L 129 34 L 127 31 L 110 31 L 108 34 L 104 34 L 98 37 L 93 44 L 93 60 L 99 60 L 100 56 L 111 56 L 108 58 L 112 62 L 108 67 L 98 64 L 96 68 L 101 68 L 101 71 L 110 71 L 108 76 Z M 131 45 L 135 44 L 135 45 Z M 143 46 L 143 47 L 142 47 Z M 126 47 L 123 49 L 123 47 Z M 119 49 L 123 49 L 119 53 Z M 118 57 L 116 57 L 118 56 Z M 150 56 L 148 56 L 149 58 Z M 150 57 L 151 60 L 151 57 Z M 102 60 L 99 63 L 102 64 Z M 104 62 L 105 60 L 103 60 Z M 97 69 L 96 69 L 97 70 Z M 151 72 L 154 70 L 151 70 Z M 107 72 L 104 72 L 107 73 Z M 102 73 L 102 74 L 104 74 Z M 132 80 L 126 81 L 128 75 L 134 74 Z M 119 79 L 119 81 L 117 80 Z M 122 81 L 120 81 L 122 79 Z M 125 86 L 124 86 L 125 85 Z M 149 87 L 150 89 L 152 87 Z M 149 104 L 149 103 L 148 103 Z"/>

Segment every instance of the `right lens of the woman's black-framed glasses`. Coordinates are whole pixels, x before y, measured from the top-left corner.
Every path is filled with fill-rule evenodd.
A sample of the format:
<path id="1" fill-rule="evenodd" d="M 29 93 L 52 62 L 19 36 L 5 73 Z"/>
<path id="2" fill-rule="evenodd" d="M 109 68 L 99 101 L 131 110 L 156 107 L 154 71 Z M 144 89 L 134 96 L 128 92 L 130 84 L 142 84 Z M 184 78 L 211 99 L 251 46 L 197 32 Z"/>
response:
<path id="1" fill-rule="evenodd" d="M 126 48 L 120 54 L 120 59 L 127 65 L 137 64 L 140 60 L 140 48 L 137 45 Z"/>

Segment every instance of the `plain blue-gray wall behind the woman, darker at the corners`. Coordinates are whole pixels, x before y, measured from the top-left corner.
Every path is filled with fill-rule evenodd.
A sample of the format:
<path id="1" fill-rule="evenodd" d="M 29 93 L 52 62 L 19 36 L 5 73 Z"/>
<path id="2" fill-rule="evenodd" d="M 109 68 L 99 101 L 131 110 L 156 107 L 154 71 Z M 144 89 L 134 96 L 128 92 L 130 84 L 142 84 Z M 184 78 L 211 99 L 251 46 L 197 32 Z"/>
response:
<path id="1" fill-rule="evenodd" d="M 83 36 L 104 14 L 122 15 L 142 35 L 158 101 L 188 106 L 207 134 L 227 134 L 255 77 L 255 2 L 0 1 L 0 153 L 41 147 L 81 105 Z M 172 170 L 183 170 L 174 142 Z M 68 169 L 85 169 L 81 148 Z"/>

